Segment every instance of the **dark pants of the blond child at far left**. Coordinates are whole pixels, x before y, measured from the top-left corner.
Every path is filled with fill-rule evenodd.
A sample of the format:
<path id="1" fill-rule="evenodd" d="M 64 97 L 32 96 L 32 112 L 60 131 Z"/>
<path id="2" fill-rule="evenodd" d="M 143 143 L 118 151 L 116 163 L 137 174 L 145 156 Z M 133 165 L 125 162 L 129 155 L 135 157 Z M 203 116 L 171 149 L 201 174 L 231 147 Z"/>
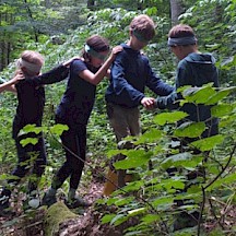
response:
<path id="1" fill-rule="evenodd" d="M 34 144 L 27 144 L 23 146 L 20 142 L 26 138 L 38 138 L 38 142 Z M 23 178 L 30 170 L 32 179 L 28 181 L 28 192 L 32 192 L 37 189 L 38 179 L 44 174 L 46 166 L 46 149 L 43 133 L 39 135 L 36 134 L 26 134 L 15 138 L 15 145 L 17 151 L 17 165 L 12 172 L 12 179 L 8 180 L 8 184 L 17 185 L 17 182 Z M 17 178 L 15 178 L 17 177 Z M 4 188 L 2 191 L 4 196 L 11 196 L 9 188 Z"/>

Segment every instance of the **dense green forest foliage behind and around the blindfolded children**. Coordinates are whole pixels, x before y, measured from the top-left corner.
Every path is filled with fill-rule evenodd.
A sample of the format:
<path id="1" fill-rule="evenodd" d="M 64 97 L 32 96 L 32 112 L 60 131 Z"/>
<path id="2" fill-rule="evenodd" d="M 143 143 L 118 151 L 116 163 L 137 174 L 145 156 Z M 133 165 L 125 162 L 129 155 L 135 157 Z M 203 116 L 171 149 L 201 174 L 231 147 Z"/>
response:
<path id="1" fill-rule="evenodd" d="M 235 0 L 1 0 L 0 4 L 0 78 L 9 80 L 15 70 L 15 60 L 25 49 L 37 50 L 45 56 L 43 71 L 73 57 L 80 56 L 85 39 L 99 34 L 109 39 L 111 46 L 126 42 L 129 37 L 129 23 L 137 14 L 149 14 L 156 23 L 156 35 L 144 48 L 156 73 L 167 83 L 174 84 L 176 58 L 167 48 L 167 33 L 179 22 L 191 25 L 197 35 L 200 51 L 208 51 L 216 58 L 220 71 L 221 90 L 214 94 L 219 102 L 214 115 L 221 119 L 221 134 L 214 140 L 204 140 L 202 152 L 212 151 L 206 165 L 209 181 L 188 192 L 189 198 L 203 199 L 202 227 L 179 233 L 179 235 L 234 235 L 235 225 L 235 83 L 236 83 L 236 1 Z M 40 182 L 42 192 L 49 186 L 54 172 L 63 162 L 63 152 L 57 133 L 51 133 L 54 111 L 66 88 L 67 81 L 46 86 L 46 107 L 44 130 L 47 140 L 48 166 Z M 108 125 L 105 111 L 104 93 L 108 80 L 97 86 L 96 104 L 88 123 L 87 165 L 85 165 L 82 186 L 88 186 L 96 178 L 103 179 L 108 160 L 116 150 L 115 137 Z M 153 96 L 150 91 L 146 93 Z M 205 85 L 194 97 L 198 103 L 204 97 L 209 103 L 212 95 L 210 85 Z M 198 97 L 199 96 L 199 97 Z M 202 101 L 201 101 L 202 102 Z M 11 138 L 12 119 L 15 114 L 16 96 L 11 93 L 0 95 L 0 162 L 3 182 L 7 173 L 14 167 L 15 148 Z M 174 214 L 172 202 L 175 199 L 173 188 L 181 186 L 181 179 L 166 179 L 164 167 L 180 165 L 192 168 L 202 158 L 189 155 L 173 155 L 165 161 L 169 152 L 169 138 L 176 134 L 176 114 L 166 113 L 161 117 L 158 110 L 141 110 L 143 137 L 137 145 L 144 148 L 134 153 L 125 153 L 128 158 L 137 157 L 137 163 L 122 164 L 122 168 L 134 168 L 140 176 L 122 192 L 101 200 L 98 205 L 115 205 L 113 214 L 103 208 L 101 219 L 104 224 L 119 226 L 131 217 L 139 219 L 132 227 L 122 228 L 121 235 L 169 235 L 169 222 Z M 192 130 L 190 130 L 192 132 Z M 182 134 L 188 135 L 188 133 Z M 143 151 L 145 150 L 145 151 Z M 141 156 L 141 157 L 140 157 Z M 143 161 L 144 158 L 144 161 Z M 152 162 L 152 168 L 148 163 Z M 117 166 L 119 168 L 119 166 Z M 98 177 L 97 177 L 98 176 Z M 152 187 L 152 188 L 151 188 Z M 25 190 L 22 184 L 22 191 Z M 64 184 L 63 190 L 68 185 Z M 139 196 L 133 197 L 133 191 Z M 191 209 L 188 209 L 189 211 Z M 170 220 L 169 220 L 170 219 Z M 234 219 L 234 220 L 233 220 Z M 11 224 L 13 225 L 14 222 Z M 10 225 L 11 225 L 10 224 Z M 150 227 L 150 225 L 152 227 Z M 209 226 L 211 225 L 211 226 Z M 80 234 L 78 234 L 80 235 Z M 88 235 L 88 234 L 87 234 Z M 178 235 L 178 234 L 176 234 Z"/>

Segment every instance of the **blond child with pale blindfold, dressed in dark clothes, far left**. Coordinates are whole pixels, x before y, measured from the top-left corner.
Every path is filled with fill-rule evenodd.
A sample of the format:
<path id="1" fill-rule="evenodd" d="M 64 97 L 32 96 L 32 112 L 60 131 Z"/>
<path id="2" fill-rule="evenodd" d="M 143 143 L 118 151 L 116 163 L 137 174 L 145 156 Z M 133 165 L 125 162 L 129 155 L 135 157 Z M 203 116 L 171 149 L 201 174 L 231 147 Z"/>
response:
<path id="1" fill-rule="evenodd" d="M 11 214 L 9 211 L 11 188 L 26 175 L 31 161 L 33 161 L 32 174 L 36 177 L 36 180 L 30 180 L 28 182 L 30 200 L 32 197 L 35 197 L 37 182 L 43 175 L 46 165 L 44 138 L 43 133 L 27 133 L 20 135 L 20 130 L 30 123 L 34 123 L 37 127 L 42 126 L 45 105 L 45 90 L 42 84 L 64 79 L 68 75 L 68 66 L 71 60 L 39 75 L 44 63 L 44 58 L 40 54 L 25 50 L 17 60 L 17 70 L 13 81 L 20 78 L 22 79 L 22 74 L 25 78 L 15 84 L 19 104 L 13 120 L 13 139 L 15 140 L 19 161 L 11 174 L 14 178 L 8 180 L 8 187 L 3 188 L 0 194 L 0 215 L 2 216 L 8 215 L 9 213 Z M 9 83 L 11 84 L 13 81 Z M 37 138 L 38 142 L 35 145 L 27 144 L 23 146 L 21 140 L 25 138 Z"/>

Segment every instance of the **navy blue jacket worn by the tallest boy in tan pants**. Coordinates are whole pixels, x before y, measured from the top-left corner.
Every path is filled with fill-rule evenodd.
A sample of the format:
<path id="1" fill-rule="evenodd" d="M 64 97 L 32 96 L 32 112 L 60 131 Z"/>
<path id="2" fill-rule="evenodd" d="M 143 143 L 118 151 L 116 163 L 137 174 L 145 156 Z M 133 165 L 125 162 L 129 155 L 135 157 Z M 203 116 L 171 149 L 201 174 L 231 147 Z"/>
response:
<path id="1" fill-rule="evenodd" d="M 144 55 L 126 44 L 121 46 L 123 50 L 117 55 L 111 66 L 110 84 L 105 94 L 107 103 L 137 107 L 145 96 L 145 86 L 161 96 L 173 92 L 172 86 L 156 76 Z"/>

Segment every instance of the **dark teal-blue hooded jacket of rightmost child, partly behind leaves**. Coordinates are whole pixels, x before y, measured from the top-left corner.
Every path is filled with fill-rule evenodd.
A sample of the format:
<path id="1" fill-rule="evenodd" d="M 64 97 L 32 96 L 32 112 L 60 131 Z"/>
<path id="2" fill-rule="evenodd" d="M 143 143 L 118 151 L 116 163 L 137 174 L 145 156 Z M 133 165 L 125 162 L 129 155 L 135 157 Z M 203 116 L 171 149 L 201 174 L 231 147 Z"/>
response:
<path id="1" fill-rule="evenodd" d="M 192 52 L 179 61 L 176 75 L 176 91 L 184 85 L 191 85 L 192 87 L 201 87 L 203 84 L 213 82 L 214 87 L 219 87 L 219 74 L 215 67 L 215 59 L 210 54 L 196 54 Z M 180 109 L 189 116 L 188 120 L 205 121 L 209 130 L 203 133 L 203 137 L 209 137 L 217 133 L 217 119 L 211 119 L 211 106 L 202 104 L 185 104 L 182 107 L 177 103 L 182 96 L 176 91 L 166 97 L 158 97 L 156 106 L 161 109 Z M 180 122 L 181 123 L 181 122 Z"/>

